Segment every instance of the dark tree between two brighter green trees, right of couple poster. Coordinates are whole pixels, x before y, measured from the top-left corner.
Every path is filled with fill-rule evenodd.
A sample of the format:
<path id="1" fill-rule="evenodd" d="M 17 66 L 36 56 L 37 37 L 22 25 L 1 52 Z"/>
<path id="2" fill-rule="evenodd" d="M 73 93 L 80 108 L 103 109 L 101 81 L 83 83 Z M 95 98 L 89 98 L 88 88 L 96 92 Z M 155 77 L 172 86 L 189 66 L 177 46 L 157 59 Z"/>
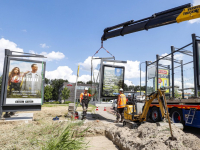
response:
<path id="1" fill-rule="evenodd" d="M 54 79 L 51 80 L 51 86 L 53 87 L 53 99 L 58 100 L 59 98 L 59 90 L 63 86 L 64 82 L 68 82 L 68 80 L 63 80 L 63 79 Z"/>

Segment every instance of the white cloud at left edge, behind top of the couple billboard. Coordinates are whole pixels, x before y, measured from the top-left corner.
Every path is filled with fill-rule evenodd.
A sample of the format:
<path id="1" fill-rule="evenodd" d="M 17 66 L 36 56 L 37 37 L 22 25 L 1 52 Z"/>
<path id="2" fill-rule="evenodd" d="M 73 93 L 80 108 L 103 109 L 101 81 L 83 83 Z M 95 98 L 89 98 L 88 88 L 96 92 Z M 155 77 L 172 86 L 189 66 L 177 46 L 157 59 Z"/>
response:
<path id="1" fill-rule="evenodd" d="M 17 44 L 15 44 L 14 42 L 1 38 L 0 39 L 0 74 L 2 74 L 3 72 L 5 49 L 9 49 L 11 51 L 23 52 L 23 49 L 17 47 Z"/>

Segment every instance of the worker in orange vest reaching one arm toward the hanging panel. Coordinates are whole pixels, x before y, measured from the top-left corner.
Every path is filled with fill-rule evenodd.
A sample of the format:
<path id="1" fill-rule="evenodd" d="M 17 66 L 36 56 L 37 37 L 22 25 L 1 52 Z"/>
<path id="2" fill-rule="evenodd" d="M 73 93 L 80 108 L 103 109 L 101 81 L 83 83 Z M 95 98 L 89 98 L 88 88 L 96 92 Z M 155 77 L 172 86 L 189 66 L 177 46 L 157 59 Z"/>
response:
<path id="1" fill-rule="evenodd" d="M 96 91 L 92 95 L 90 93 L 88 93 L 88 88 L 87 87 L 85 87 L 84 93 L 80 94 L 80 104 L 82 105 L 82 108 L 83 108 L 82 120 L 84 118 L 86 118 L 87 109 L 88 109 L 88 103 L 89 103 L 89 97 L 92 97 L 95 94 L 96 94 Z"/>

